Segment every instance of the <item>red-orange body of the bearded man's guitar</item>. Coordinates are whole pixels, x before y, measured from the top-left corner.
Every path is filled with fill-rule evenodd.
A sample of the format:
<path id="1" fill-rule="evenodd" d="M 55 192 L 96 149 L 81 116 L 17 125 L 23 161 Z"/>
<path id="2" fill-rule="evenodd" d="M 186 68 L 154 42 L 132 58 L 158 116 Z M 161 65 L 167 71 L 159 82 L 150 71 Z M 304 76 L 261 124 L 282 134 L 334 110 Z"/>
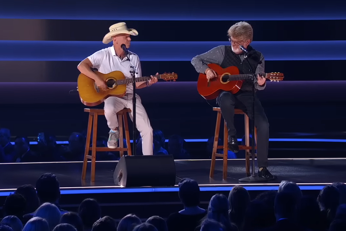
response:
<path id="1" fill-rule="evenodd" d="M 214 63 L 210 63 L 208 66 L 218 74 L 218 77 L 215 77 L 208 82 L 206 74 L 199 74 L 197 90 L 205 99 L 215 99 L 221 91 L 229 91 L 232 94 L 235 94 L 239 91 L 240 87 L 242 87 L 244 80 L 227 81 L 227 77 L 222 78 L 224 75 L 239 74 L 239 69 L 236 66 L 221 68 L 219 65 Z"/>

